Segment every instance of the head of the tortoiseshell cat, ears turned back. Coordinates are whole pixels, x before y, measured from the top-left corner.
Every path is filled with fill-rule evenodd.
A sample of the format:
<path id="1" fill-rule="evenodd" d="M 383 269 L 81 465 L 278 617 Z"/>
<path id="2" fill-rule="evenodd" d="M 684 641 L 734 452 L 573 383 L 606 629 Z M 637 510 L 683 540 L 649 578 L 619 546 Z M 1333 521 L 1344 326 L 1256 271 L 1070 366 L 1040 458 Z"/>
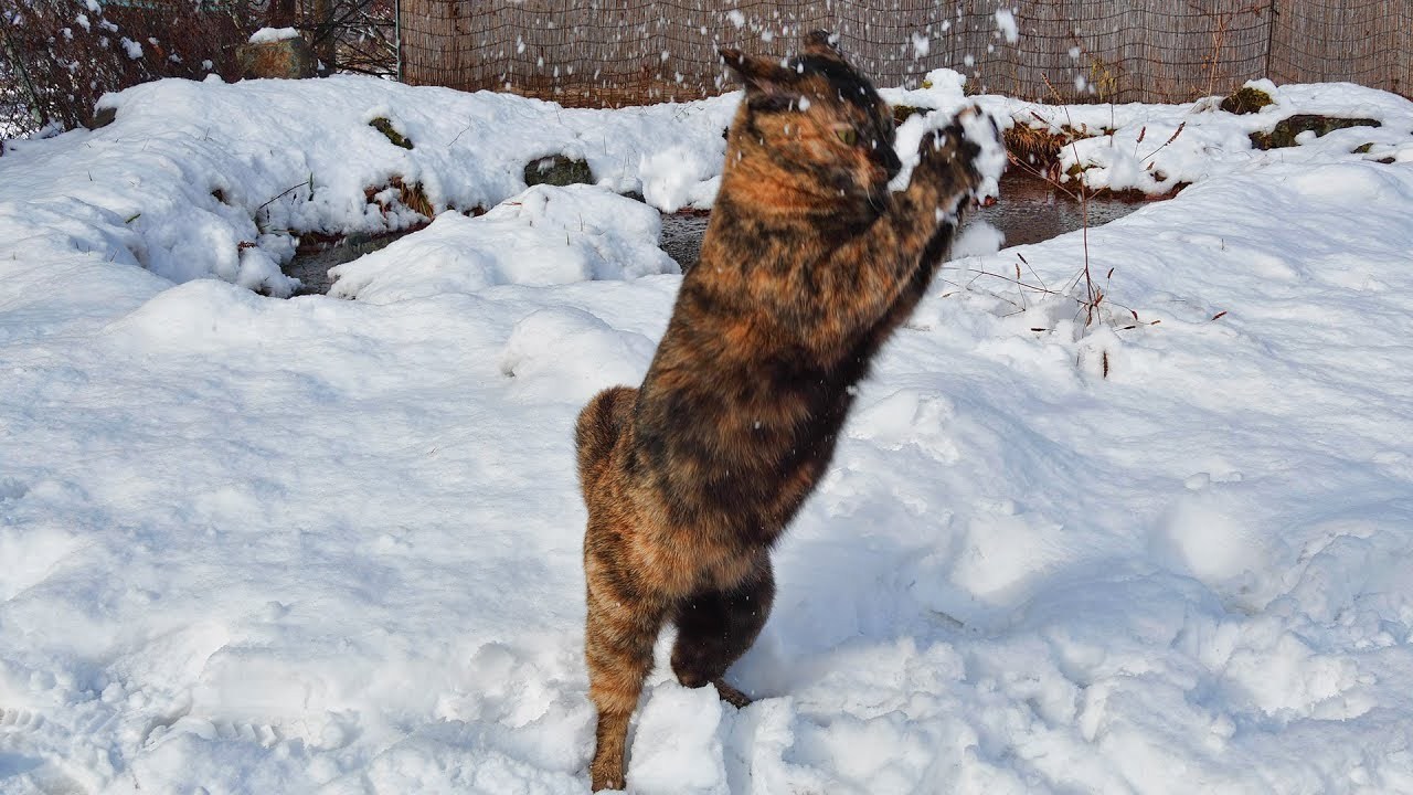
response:
<path id="1" fill-rule="evenodd" d="M 844 198 L 870 199 L 886 190 L 901 167 L 892 109 L 829 34 L 810 34 L 801 54 L 786 61 L 738 50 L 721 57 L 746 86 L 732 127 L 735 157 L 769 158 L 784 175 Z"/>

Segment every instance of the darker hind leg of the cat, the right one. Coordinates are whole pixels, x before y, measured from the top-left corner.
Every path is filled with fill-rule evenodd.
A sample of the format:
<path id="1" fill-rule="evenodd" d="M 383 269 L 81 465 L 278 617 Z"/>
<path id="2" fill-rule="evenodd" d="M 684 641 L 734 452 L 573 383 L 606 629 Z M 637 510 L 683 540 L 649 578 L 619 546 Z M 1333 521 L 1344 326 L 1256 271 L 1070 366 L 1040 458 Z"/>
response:
<path id="1" fill-rule="evenodd" d="M 678 603 L 673 617 L 677 641 L 673 645 L 673 673 L 687 687 L 716 686 L 721 697 L 738 707 L 750 699 L 722 680 L 731 663 L 736 662 L 756 642 L 760 628 L 770 617 L 776 597 L 774 573 L 770 557 L 759 553 L 750 574 L 728 590 L 698 591 Z"/>

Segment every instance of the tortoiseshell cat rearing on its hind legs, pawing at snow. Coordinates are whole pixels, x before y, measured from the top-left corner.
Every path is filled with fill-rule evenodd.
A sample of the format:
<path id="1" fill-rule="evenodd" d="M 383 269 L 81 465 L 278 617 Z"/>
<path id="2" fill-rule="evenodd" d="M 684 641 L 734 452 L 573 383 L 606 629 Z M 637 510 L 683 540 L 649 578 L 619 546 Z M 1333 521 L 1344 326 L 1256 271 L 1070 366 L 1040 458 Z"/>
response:
<path id="1" fill-rule="evenodd" d="M 749 703 L 722 675 L 770 614 L 770 547 L 981 182 L 979 147 L 954 119 L 890 192 L 892 110 L 825 33 L 787 62 L 721 55 L 745 99 L 701 262 L 642 386 L 598 393 L 575 426 L 593 791 L 625 784 L 629 719 L 664 624 L 682 685 Z"/>

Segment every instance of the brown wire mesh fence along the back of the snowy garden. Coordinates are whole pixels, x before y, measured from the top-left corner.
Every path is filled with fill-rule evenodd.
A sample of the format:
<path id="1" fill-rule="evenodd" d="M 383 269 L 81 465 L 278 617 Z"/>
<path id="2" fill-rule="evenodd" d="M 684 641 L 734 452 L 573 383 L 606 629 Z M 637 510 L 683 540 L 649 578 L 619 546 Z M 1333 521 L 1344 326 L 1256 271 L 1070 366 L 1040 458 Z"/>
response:
<path id="1" fill-rule="evenodd" d="M 1064 102 L 1260 76 L 1407 93 L 1413 68 L 1413 0 L 401 0 L 400 20 L 406 82 L 591 106 L 721 93 L 718 47 L 786 55 L 818 28 L 879 85 L 950 66 L 971 91 Z"/>

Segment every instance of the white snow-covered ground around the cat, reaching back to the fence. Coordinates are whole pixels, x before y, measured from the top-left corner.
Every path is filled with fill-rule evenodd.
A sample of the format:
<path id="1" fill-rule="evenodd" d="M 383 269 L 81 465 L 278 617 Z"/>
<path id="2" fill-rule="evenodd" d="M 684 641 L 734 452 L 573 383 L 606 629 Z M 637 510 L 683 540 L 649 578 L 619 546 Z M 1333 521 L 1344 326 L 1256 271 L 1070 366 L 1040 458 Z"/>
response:
<path id="1" fill-rule="evenodd" d="M 777 552 L 759 700 L 656 672 L 632 791 L 1413 792 L 1413 105 L 1275 93 L 981 99 L 1194 184 L 942 272 Z M 680 283 L 612 191 L 708 205 L 736 98 L 109 102 L 0 158 L 0 792 L 585 792 L 571 424 Z M 1383 126 L 1251 150 L 1297 112 Z M 523 192 L 557 153 L 602 187 Z M 290 229 L 415 221 L 394 177 L 452 211 L 356 300 L 252 290 Z"/>

